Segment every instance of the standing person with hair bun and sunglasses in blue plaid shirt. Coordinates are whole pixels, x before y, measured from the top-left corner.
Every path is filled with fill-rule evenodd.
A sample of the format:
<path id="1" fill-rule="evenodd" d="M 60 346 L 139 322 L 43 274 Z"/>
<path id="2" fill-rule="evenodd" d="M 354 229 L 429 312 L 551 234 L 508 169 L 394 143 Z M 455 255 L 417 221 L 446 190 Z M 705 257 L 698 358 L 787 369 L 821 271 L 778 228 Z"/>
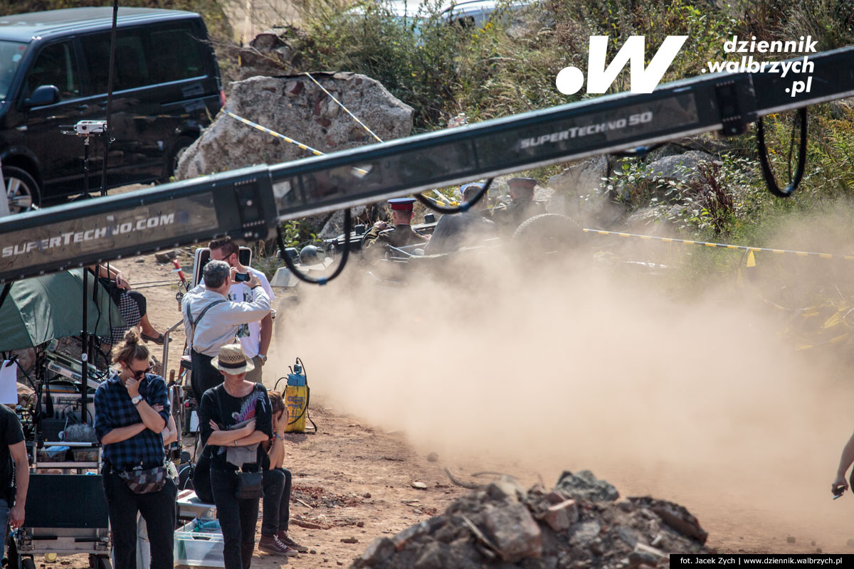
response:
<path id="1" fill-rule="evenodd" d="M 95 431 L 113 531 L 115 569 L 136 569 L 137 512 L 148 525 L 151 569 L 173 567 L 176 486 L 164 465 L 169 419 L 166 381 L 151 371 L 136 329 L 114 348 L 114 367 L 95 392 Z"/>

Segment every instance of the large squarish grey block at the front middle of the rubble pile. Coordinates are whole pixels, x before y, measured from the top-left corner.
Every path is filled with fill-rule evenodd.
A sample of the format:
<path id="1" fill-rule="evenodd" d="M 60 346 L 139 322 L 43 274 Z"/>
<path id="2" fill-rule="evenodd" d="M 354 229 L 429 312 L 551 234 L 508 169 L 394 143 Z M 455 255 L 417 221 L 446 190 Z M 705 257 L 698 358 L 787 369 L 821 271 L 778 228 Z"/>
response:
<path id="1" fill-rule="evenodd" d="M 523 504 L 488 508 L 483 514 L 483 523 L 498 548 L 501 559 L 507 563 L 516 563 L 525 557 L 539 557 L 542 554 L 540 526 Z"/>

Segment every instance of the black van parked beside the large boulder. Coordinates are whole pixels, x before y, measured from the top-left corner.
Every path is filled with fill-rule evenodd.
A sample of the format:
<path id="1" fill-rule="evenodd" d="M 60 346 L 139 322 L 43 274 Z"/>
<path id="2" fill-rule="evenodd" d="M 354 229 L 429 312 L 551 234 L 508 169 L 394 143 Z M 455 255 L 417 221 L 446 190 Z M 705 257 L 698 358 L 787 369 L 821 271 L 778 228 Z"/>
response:
<path id="1" fill-rule="evenodd" d="M 113 9 L 0 17 L 0 161 L 12 213 L 84 188 L 84 139 L 62 131 L 107 114 Z M 200 15 L 120 8 L 108 187 L 172 175 L 225 103 Z M 103 141 L 91 136 L 90 189 L 101 185 Z"/>

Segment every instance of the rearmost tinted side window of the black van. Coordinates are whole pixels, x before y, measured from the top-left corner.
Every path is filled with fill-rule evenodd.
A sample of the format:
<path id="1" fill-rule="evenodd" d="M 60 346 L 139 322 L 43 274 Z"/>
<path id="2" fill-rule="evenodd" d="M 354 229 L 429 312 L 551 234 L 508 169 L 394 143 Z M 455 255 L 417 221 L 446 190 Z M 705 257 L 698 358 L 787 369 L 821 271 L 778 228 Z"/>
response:
<path id="1" fill-rule="evenodd" d="M 169 49 L 163 49 L 163 46 Z M 200 40 L 187 27 L 151 32 L 151 82 L 167 83 L 205 75 Z"/>

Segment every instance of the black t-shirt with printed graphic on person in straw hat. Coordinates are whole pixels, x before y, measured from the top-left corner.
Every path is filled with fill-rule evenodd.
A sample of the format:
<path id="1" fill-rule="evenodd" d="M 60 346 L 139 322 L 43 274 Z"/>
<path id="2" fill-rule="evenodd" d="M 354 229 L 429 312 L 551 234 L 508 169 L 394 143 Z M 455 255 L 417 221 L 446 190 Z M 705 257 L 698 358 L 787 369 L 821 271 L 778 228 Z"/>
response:
<path id="1" fill-rule="evenodd" d="M 260 383 L 254 384 L 249 395 L 242 398 L 231 397 L 225 391 L 225 385 L 208 389 L 202 395 L 202 404 L 199 406 L 199 428 L 202 429 L 202 443 L 208 444 L 208 437 L 213 433 L 210 420 L 213 419 L 220 430 L 230 430 L 231 427 L 245 421 L 255 420 L 255 430 L 265 433 L 272 438 L 272 409 L 270 398 L 267 397 L 266 387 Z M 225 446 L 208 445 L 211 463 L 219 467 L 230 467 L 225 460 Z M 266 444 L 258 445 L 258 462 L 262 462 L 266 455 Z"/>

